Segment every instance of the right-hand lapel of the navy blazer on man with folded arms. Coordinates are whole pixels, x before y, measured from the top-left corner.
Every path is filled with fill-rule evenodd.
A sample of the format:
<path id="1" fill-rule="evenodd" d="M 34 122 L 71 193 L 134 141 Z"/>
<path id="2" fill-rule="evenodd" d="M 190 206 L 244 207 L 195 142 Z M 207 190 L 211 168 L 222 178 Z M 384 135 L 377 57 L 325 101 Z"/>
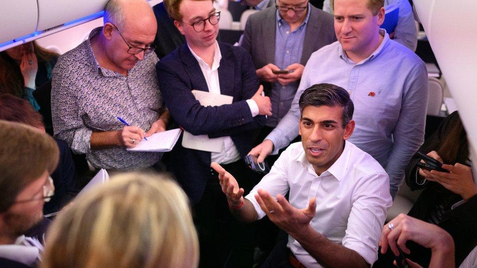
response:
<path id="1" fill-rule="evenodd" d="M 220 85 L 220 94 L 227 96 L 234 96 L 235 85 L 235 64 L 232 58 L 232 51 L 229 47 L 218 43 L 222 59 L 220 60 L 220 66 L 218 67 L 218 82 Z"/>

